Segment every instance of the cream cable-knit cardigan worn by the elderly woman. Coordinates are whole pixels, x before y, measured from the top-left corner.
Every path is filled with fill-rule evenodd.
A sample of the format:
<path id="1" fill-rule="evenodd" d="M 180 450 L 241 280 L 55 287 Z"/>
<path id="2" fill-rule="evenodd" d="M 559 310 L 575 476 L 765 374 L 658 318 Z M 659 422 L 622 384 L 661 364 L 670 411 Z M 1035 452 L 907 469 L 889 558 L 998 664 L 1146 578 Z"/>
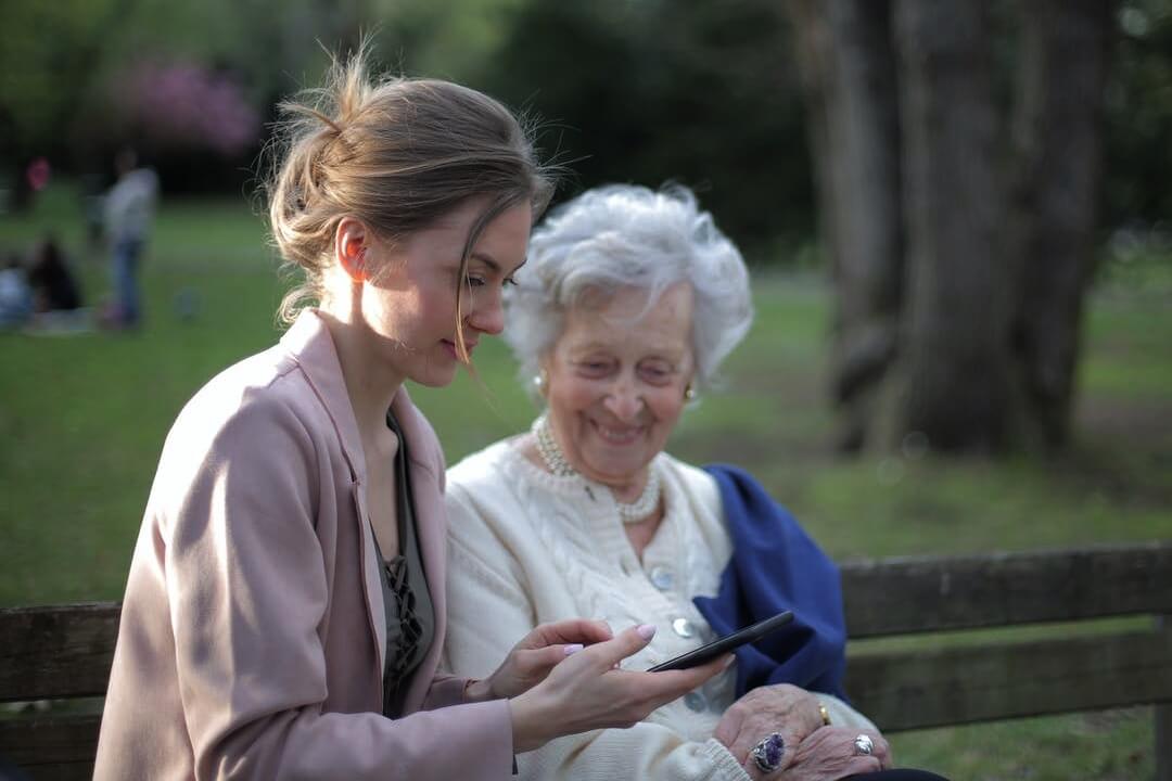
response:
<path id="1" fill-rule="evenodd" d="M 448 471 L 449 669 L 485 678 L 537 624 L 579 616 L 615 632 L 655 624 L 650 644 L 624 662 L 631 670 L 713 639 L 691 598 L 716 594 L 732 553 L 716 481 L 666 453 L 655 458 L 666 515 L 640 561 L 608 488 L 538 468 L 518 441 L 499 441 Z M 747 781 L 711 737 L 734 701 L 735 673 L 730 667 L 631 729 L 560 738 L 522 754 L 520 777 Z M 874 728 L 845 703 L 819 699 L 832 724 Z"/>

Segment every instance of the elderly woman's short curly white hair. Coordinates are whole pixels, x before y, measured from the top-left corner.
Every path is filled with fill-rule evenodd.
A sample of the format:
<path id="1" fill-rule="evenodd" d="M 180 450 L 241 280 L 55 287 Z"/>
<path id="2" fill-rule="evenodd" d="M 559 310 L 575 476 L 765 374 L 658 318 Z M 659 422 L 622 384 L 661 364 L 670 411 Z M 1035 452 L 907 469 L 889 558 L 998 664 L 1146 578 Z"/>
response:
<path id="1" fill-rule="evenodd" d="M 533 377 L 587 294 L 647 292 L 648 307 L 677 282 L 695 296 L 694 384 L 710 390 L 721 362 L 752 323 L 749 272 L 736 246 L 680 185 L 588 190 L 533 232 L 529 261 L 505 294 L 505 341 Z"/>

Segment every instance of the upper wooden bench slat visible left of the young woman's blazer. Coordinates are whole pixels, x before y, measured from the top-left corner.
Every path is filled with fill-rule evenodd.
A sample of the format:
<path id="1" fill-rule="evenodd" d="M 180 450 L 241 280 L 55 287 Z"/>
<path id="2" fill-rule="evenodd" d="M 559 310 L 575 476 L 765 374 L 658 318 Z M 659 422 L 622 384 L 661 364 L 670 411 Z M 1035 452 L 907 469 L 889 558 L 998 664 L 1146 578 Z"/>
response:
<path id="1" fill-rule="evenodd" d="M 0 609 L 0 701 L 104 694 L 118 610 L 114 602 Z"/>

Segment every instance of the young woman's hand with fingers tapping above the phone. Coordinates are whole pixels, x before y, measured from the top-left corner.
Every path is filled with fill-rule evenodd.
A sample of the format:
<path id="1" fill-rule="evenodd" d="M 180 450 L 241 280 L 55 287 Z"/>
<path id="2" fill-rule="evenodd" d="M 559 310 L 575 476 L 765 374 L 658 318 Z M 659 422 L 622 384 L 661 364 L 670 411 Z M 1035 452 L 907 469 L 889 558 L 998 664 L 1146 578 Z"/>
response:
<path id="1" fill-rule="evenodd" d="M 613 637 L 604 621 L 571 619 L 540 624 L 523 637 L 496 671 L 468 687 L 472 701 L 506 699 L 527 692 L 582 646 Z"/>

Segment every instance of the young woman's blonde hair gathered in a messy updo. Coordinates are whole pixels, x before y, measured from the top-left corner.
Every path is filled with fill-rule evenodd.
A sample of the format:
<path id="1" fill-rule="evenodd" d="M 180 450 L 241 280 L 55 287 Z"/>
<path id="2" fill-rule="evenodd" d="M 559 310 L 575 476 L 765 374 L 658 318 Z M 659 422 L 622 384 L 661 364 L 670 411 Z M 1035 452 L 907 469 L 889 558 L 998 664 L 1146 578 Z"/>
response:
<path id="1" fill-rule="evenodd" d="M 468 256 L 502 212 L 529 201 L 534 220 L 553 191 L 552 169 L 536 159 L 531 132 L 504 105 L 459 84 L 402 76 L 372 77 L 366 43 L 326 85 L 280 104 L 267 184 L 273 242 L 286 267 L 305 280 L 285 296 L 279 317 L 292 322 L 325 296 L 334 233 L 355 217 L 391 244 L 428 227 L 472 198 L 488 205 L 464 245 Z M 377 276 L 382 269 L 372 269 Z M 457 283 L 457 350 L 463 341 L 463 283 Z"/>

